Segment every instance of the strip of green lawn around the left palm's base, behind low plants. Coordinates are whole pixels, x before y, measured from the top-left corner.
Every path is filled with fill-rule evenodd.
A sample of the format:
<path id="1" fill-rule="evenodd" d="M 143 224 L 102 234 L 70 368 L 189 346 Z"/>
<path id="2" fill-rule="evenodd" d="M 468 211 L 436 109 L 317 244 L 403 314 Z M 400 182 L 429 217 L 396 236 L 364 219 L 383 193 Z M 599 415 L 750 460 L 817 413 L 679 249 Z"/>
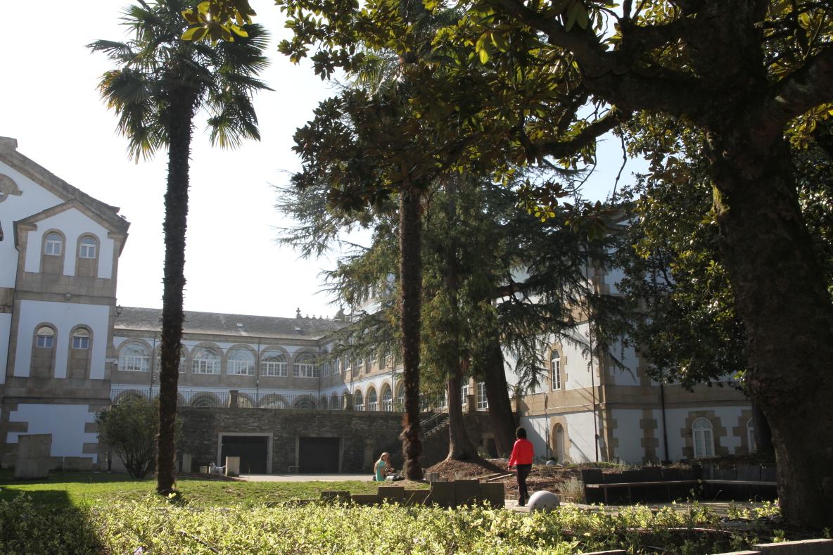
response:
<path id="1" fill-rule="evenodd" d="M 26 493 L 37 505 L 68 507 L 92 505 L 99 500 L 130 500 L 151 494 L 155 478 L 134 480 L 115 473 L 50 473 L 37 481 L 15 480 L 10 471 L 0 471 L 0 499 L 11 500 Z M 252 507 L 266 502 L 318 498 L 325 490 L 373 493 L 373 482 L 226 482 L 181 478 L 177 487 L 189 505 Z M 414 486 L 409 486 L 413 488 Z"/>

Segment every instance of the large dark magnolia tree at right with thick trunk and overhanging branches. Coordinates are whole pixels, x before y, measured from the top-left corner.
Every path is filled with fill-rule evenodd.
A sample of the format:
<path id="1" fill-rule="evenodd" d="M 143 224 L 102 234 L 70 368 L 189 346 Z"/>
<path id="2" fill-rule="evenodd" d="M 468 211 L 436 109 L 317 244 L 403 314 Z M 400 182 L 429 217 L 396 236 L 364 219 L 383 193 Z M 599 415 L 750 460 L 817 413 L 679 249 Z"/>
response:
<path id="1" fill-rule="evenodd" d="M 662 114 L 699 130 L 782 511 L 833 524 L 833 306 L 789 155 L 789 141 L 830 113 L 833 2 L 464 1 L 451 6 L 460 18 L 437 30 L 430 58 L 413 50 L 392 0 L 278 3 L 295 32 L 283 52 L 299 59 L 314 47 L 322 75 L 359 62 L 357 44 L 399 52 L 413 74 L 431 77 L 412 108 L 469 130 L 481 159 L 592 161 L 596 139 L 631 117 L 650 125 Z M 559 192 L 554 183 L 525 199 L 546 216 Z"/>

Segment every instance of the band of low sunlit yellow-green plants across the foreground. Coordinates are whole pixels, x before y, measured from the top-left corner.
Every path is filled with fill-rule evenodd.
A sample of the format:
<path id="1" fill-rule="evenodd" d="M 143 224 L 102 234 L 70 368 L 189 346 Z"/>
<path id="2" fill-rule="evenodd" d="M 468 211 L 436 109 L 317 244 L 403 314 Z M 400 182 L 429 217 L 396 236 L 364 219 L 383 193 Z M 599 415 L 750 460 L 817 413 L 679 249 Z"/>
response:
<path id="1" fill-rule="evenodd" d="M 0 517 L 3 553 L 515 555 L 621 548 L 699 555 L 739 550 L 758 540 L 756 533 L 722 527 L 713 512 L 698 505 L 686 512 L 622 507 L 613 514 L 562 507 L 526 515 L 488 507 L 194 507 L 151 495 L 64 512 L 38 512 L 18 499 L 2 503 Z"/>

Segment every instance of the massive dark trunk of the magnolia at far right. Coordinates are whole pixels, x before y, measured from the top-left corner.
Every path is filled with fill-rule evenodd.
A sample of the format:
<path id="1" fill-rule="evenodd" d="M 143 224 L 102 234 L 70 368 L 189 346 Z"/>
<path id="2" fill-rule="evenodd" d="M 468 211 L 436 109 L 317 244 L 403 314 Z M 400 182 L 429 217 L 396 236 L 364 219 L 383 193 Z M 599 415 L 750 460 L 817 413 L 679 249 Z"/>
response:
<path id="1" fill-rule="evenodd" d="M 711 173 L 721 255 L 748 335 L 751 398 L 772 429 L 784 516 L 831 527 L 833 307 L 786 143 L 738 128 L 711 137 Z"/>

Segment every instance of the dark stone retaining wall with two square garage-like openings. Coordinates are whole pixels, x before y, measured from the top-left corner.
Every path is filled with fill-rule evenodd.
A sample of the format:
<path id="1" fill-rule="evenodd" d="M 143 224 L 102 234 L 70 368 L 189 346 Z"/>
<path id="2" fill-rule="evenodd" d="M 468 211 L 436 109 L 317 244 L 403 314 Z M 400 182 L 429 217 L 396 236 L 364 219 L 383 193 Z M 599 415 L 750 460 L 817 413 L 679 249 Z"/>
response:
<path id="1" fill-rule="evenodd" d="M 177 450 L 190 453 L 194 468 L 217 462 L 220 434 L 271 434 L 272 473 L 287 473 L 297 465 L 298 438 L 340 438 L 342 473 L 371 472 L 379 454 L 392 453 L 398 467 L 397 438 L 402 432 L 402 413 L 321 411 L 257 408 L 181 407 L 182 438 Z M 486 413 L 465 415 L 472 442 L 491 437 Z M 448 452 L 448 432 L 433 434 L 424 448 L 422 466 L 441 461 Z"/>

